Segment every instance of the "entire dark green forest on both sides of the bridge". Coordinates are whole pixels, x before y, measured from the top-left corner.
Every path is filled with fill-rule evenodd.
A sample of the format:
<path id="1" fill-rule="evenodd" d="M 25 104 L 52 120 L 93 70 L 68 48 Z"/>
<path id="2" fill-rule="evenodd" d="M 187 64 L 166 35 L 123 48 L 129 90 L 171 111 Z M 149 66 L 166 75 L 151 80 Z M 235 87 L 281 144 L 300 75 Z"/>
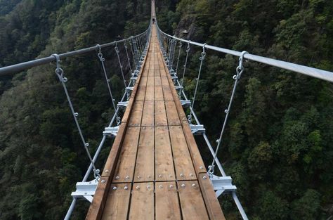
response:
<path id="1" fill-rule="evenodd" d="M 155 1 L 168 34 L 187 30 L 181 37 L 191 41 L 333 70 L 333 1 Z M 0 0 L 0 67 L 130 37 L 149 22 L 150 1 Z M 190 97 L 201 50 L 190 51 Z M 105 59 L 119 100 L 114 48 L 105 49 Z M 91 153 L 113 113 L 98 62 L 97 51 L 62 60 Z M 236 57 L 207 51 L 195 112 L 214 146 L 236 67 Z M 54 70 L 50 63 L 0 77 L 0 219 L 63 219 L 89 166 Z M 218 157 L 249 219 L 332 219 L 332 112 L 332 83 L 244 63 Z M 208 165 L 209 150 L 196 139 Z M 111 145 L 109 139 L 97 167 Z M 219 200 L 226 219 L 241 219 L 230 196 Z M 79 202 L 72 219 L 84 219 L 88 207 Z"/>

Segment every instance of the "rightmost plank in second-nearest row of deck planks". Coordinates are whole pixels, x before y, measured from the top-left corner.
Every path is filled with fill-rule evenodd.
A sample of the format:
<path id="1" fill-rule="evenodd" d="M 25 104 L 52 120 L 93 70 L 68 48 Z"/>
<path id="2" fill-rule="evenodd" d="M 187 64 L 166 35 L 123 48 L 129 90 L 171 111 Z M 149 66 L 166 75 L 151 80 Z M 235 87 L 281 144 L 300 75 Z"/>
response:
<path id="1" fill-rule="evenodd" d="M 178 180 L 197 179 L 181 126 L 170 126 L 171 148 Z"/>

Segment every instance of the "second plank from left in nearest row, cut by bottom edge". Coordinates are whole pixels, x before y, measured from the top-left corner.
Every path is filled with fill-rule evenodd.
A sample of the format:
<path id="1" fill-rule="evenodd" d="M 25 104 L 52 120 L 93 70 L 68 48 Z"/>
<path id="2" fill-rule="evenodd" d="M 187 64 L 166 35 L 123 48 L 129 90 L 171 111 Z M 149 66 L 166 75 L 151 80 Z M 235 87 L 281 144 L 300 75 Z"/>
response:
<path id="1" fill-rule="evenodd" d="M 134 183 L 129 220 L 154 220 L 154 183 Z"/>

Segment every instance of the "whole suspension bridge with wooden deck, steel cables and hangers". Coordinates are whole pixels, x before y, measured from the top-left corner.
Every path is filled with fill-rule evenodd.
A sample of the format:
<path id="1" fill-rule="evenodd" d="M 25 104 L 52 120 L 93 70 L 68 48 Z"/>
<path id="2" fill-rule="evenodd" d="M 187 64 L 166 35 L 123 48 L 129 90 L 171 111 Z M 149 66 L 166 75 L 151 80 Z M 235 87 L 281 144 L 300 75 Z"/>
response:
<path id="1" fill-rule="evenodd" d="M 185 62 L 183 71 L 179 73 L 183 45 L 186 46 Z M 115 47 L 120 74 L 124 81 L 124 95 L 118 103 L 112 96 L 112 86 L 103 57 L 103 49 L 110 46 Z M 119 46 L 124 47 L 123 56 L 120 56 Z M 198 60 L 194 95 L 189 99 L 183 89 L 183 82 L 191 46 L 202 48 L 202 53 Z M 194 111 L 202 63 L 207 50 L 239 57 L 233 76 L 235 80 L 233 91 L 224 110 L 225 119 L 215 149 Z M 67 90 L 68 79 L 65 77 L 65 68 L 60 65 L 60 60 L 63 58 L 92 51 L 98 51 L 97 57 L 110 93 L 112 108 L 115 110 L 110 124 L 103 131 L 102 141 L 93 157 Z M 77 183 L 77 188 L 72 193 L 73 200 L 65 219 L 70 219 L 78 199 L 91 202 L 86 214 L 86 219 L 89 220 L 225 219 L 217 199 L 225 194 L 231 195 L 242 219 L 247 219 L 237 198 L 237 188 L 233 185 L 231 177 L 224 172 L 217 157 L 237 84 L 244 71 L 244 59 L 333 82 L 333 72 L 255 56 L 246 51 L 232 51 L 200 44 L 166 34 L 157 25 L 154 1 L 152 1 L 150 25 L 141 34 L 108 44 L 98 44 L 2 67 L 0 75 L 54 61 L 56 63 L 55 73 L 63 86 L 82 145 L 90 160 L 86 175 Z M 124 63 L 129 68 L 129 74 L 126 74 Z M 129 79 L 126 79 L 126 76 L 129 76 Z M 189 115 L 185 114 L 184 108 L 189 109 Z M 124 110 L 123 115 L 122 110 Z M 194 135 L 202 136 L 207 143 L 212 156 L 209 166 L 206 166 L 202 160 Z M 103 172 L 100 172 L 95 162 L 106 138 L 115 138 L 115 140 Z M 91 174 L 94 178 L 88 181 Z"/>

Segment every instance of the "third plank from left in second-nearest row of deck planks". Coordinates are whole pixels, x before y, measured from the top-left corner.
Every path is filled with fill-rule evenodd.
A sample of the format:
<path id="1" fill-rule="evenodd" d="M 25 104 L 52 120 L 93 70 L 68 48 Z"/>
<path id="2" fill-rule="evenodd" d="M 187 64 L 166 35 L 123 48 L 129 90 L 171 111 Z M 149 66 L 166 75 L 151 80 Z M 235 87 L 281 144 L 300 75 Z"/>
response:
<path id="1" fill-rule="evenodd" d="M 175 180 L 168 127 L 155 127 L 155 180 Z"/>

